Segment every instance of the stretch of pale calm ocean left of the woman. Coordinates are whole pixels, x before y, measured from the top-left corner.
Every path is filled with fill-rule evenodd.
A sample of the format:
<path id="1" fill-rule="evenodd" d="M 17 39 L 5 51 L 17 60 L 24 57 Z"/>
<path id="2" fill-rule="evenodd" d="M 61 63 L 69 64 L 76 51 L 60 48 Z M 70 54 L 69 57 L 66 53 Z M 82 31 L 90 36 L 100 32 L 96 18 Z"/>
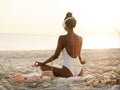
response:
<path id="1" fill-rule="evenodd" d="M 0 50 L 51 50 L 57 40 L 53 35 L 0 34 Z"/>

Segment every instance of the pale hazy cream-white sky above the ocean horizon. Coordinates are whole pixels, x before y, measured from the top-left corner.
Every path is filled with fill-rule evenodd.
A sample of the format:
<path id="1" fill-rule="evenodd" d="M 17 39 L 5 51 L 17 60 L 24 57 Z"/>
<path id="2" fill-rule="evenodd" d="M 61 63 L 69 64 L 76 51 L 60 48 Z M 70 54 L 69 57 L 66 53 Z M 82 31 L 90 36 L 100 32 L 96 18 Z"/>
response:
<path id="1" fill-rule="evenodd" d="M 0 0 L 0 33 L 64 34 L 70 11 L 79 35 L 120 38 L 119 9 L 120 0 Z"/>

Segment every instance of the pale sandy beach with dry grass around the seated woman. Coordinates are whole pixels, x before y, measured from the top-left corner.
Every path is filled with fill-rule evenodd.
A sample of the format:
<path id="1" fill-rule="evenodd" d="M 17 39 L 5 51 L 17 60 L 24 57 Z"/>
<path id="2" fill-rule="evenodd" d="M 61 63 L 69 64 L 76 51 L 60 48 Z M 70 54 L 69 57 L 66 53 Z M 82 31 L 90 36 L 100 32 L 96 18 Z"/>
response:
<path id="1" fill-rule="evenodd" d="M 37 80 L 16 83 L 13 74 L 41 74 L 32 67 L 35 61 L 48 59 L 54 50 L 0 51 L 0 90 L 120 90 L 120 49 L 83 49 L 83 77 Z M 61 67 L 62 55 L 50 65 Z"/>

